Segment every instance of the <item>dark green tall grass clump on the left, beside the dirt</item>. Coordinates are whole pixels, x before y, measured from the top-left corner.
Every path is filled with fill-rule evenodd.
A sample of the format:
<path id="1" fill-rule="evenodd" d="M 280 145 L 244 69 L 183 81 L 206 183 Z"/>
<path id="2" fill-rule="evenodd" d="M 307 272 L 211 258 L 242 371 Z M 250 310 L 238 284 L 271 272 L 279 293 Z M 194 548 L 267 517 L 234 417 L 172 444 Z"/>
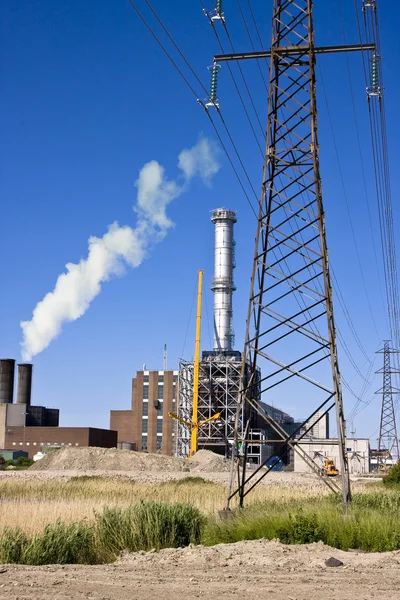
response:
<path id="1" fill-rule="evenodd" d="M 0 535 L 0 563 L 27 565 L 100 564 L 122 550 L 150 550 L 198 544 L 204 517 L 192 506 L 160 502 L 105 509 L 93 523 L 57 521 L 27 535 L 6 528 Z"/>

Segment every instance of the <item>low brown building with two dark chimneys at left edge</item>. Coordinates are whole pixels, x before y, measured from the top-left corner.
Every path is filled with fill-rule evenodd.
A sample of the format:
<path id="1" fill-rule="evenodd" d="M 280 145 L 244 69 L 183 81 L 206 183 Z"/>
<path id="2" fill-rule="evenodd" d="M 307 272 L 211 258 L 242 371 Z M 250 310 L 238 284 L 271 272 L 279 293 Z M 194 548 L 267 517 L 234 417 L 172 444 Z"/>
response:
<path id="1" fill-rule="evenodd" d="M 25 451 L 32 458 L 44 446 L 116 448 L 117 432 L 92 427 L 59 427 L 59 410 L 32 406 L 32 365 L 18 365 L 14 403 L 15 360 L 0 360 L 0 450 Z"/>

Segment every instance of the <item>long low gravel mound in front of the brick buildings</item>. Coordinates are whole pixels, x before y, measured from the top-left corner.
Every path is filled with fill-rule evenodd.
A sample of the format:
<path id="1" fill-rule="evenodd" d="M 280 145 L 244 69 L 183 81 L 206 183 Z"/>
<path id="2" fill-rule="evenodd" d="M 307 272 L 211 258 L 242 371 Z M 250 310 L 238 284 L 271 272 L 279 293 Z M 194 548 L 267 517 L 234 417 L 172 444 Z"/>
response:
<path id="1" fill-rule="evenodd" d="M 38 460 L 32 471 L 188 471 L 187 461 L 115 448 L 61 448 Z"/>

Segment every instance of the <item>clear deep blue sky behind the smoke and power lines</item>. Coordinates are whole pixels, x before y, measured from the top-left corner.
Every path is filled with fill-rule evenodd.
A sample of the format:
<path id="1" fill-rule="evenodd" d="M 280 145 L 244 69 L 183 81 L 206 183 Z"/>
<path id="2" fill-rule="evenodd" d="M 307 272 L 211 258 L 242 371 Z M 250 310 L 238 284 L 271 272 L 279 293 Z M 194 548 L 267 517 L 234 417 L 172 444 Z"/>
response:
<path id="1" fill-rule="evenodd" d="M 137 4 L 154 24 L 144 2 Z M 268 46 L 272 2 L 260 0 L 252 4 Z M 346 3 L 345 9 L 346 41 L 356 43 L 352 4 Z M 343 43 L 337 2 L 315 5 L 317 44 Z M 153 6 L 208 87 L 207 66 L 213 54 L 220 51 L 200 3 L 178 0 L 171 5 L 154 0 Z M 248 50 L 237 4 L 225 3 L 225 12 L 235 49 Z M 395 226 L 400 216 L 395 162 L 400 134 L 396 111 L 400 92 L 399 18 L 397 4 L 389 11 L 386 3 L 381 3 Z M 35 305 L 54 288 L 65 264 L 84 258 L 88 238 L 101 237 L 115 220 L 121 225 L 135 225 L 134 182 L 143 165 L 157 160 L 168 177 L 175 179 L 179 175 L 177 161 L 181 150 L 193 146 L 201 135 L 215 141 L 216 138 L 202 108 L 127 0 L 5 0 L 0 21 L 0 355 L 19 359 L 19 323 L 31 318 Z M 157 32 L 161 36 L 159 29 Z M 228 50 L 225 38 L 222 39 Z M 352 55 L 350 66 L 378 247 L 361 58 Z M 369 302 L 383 339 L 388 335 L 380 291 L 383 278 L 381 273 L 379 279 L 375 269 L 346 59 L 322 57 L 318 69 L 318 83 L 321 71 L 323 74 Z M 258 71 L 250 63 L 246 63 L 244 71 L 264 123 L 265 93 Z M 199 86 L 195 87 L 202 97 Z M 258 190 L 261 171 L 257 147 L 226 68 L 220 74 L 219 97 Z M 371 323 L 362 286 L 321 86 L 318 108 L 330 260 L 359 337 L 372 357 L 381 340 Z M 61 336 L 35 357 L 33 400 L 60 408 L 62 425 L 108 427 L 109 410 L 128 408 L 130 404 L 130 378 L 135 371 L 143 363 L 148 368 L 162 368 L 164 343 L 168 345 L 170 368 L 176 367 L 182 354 L 191 357 L 193 316 L 186 345 L 185 333 L 197 270 L 204 269 L 207 290 L 212 279 L 213 228 L 209 217 L 210 211 L 219 206 L 228 206 L 238 213 L 234 326 L 237 348 L 242 349 L 255 223 L 222 152 L 220 162 L 221 170 L 212 187 L 194 179 L 187 193 L 172 202 L 168 214 L 175 226 L 143 264 L 104 284 L 88 312 L 66 325 Z M 205 301 L 208 311 L 204 311 L 202 347 L 208 349 L 211 292 L 207 291 Z M 335 308 L 337 323 L 354 360 L 365 372 L 365 360 L 337 303 Z M 343 352 L 340 364 L 346 379 L 352 380 L 355 372 Z M 378 363 L 375 366 L 380 367 Z M 356 376 L 352 386 L 358 392 L 361 385 L 362 380 Z M 375 379 L 366 400 L 380 385 Z M 354 401 L 345 392 L 348 411 Z M 294 416 L 307 413 L 307 406 L 296 406 L 288 398 L 275 399 L 275 404 Z M 372 434 L 378 419 L 379 398 L 375 397 L 355 422 L 357 434 Z"/>

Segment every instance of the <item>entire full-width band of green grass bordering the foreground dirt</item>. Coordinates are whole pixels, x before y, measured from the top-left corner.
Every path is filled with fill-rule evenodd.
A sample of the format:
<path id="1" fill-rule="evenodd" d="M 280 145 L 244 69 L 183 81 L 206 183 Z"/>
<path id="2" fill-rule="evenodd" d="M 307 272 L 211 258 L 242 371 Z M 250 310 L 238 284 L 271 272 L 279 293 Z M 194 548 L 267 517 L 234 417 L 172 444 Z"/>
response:
<path id="1" fill-rule="evenodd" d="M 347 514 L 343 514 L 336 496 L 285 503 L 272 500 L 228 513 L 223 520 L 204 517 L 195 506 L 182 503 L 108 507 L 92 521 L 58 520 L 39 533 L 3 529 L 0 563 L 101 564 L 116 560 L 123 550 L 260 538 L 279 538 L 286 544 L 323 541 L 341 550 L 399 550 L 400 491 L 381 486 L 373 492 L 355 494 Z"/>

